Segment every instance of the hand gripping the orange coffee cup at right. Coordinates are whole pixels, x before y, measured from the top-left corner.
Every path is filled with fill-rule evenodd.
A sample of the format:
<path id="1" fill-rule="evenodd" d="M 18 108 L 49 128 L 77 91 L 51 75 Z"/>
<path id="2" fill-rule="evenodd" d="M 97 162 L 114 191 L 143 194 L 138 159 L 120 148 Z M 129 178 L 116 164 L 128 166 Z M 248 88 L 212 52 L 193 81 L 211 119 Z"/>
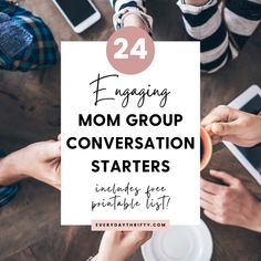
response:
<path id="1" fill-rule="evenodd" d="M 212 143 L 231 142 L 243 147 L 261 143 L 261 116 L 244 113 L 229 106 L 213 108 L 201 122 Z"/>

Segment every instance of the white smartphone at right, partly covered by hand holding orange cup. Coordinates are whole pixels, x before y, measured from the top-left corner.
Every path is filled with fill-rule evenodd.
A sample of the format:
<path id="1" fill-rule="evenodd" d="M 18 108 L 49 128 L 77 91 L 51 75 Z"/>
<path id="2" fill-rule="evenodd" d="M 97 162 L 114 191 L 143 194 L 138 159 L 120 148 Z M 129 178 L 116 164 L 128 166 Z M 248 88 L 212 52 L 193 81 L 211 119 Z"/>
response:
<path id="1" fill-rule="evenodd" d="M 261 115 L 261 88 L 252 85 L 233 100 L 229 106 L 247 113 Z M 261 143 L 251 148 L 236 146 L 228 142 L 223 143 L 261 185 Z"/>

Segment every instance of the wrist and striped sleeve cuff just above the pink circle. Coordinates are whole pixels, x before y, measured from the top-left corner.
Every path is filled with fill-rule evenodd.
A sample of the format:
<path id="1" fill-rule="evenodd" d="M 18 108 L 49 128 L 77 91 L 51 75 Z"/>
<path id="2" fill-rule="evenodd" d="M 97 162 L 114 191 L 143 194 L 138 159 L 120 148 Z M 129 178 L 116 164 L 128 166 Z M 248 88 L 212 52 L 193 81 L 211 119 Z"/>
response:
<path id="1" fill-rule="evenodd" d="M 146 14 L 145 1 L 109 0 L 114 8 L 114 27 L 116 30 L 123 27 L 137 27 L 149 32 L 153 27 L 152 17 Z"/>

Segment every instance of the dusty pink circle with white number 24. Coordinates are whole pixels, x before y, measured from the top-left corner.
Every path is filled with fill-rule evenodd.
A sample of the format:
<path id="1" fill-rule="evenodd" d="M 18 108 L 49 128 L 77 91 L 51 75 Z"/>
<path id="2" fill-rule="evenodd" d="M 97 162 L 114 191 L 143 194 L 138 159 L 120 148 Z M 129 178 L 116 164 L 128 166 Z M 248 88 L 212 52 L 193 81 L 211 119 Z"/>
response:
<path id="1" fill-rule="evenodd" d="M 155 48 L 153 39 L 145 30 L 127 27 L 112 34 L 106 52 L 115 70 L 124 74 L 137 74 L 150 65 Z"/>

